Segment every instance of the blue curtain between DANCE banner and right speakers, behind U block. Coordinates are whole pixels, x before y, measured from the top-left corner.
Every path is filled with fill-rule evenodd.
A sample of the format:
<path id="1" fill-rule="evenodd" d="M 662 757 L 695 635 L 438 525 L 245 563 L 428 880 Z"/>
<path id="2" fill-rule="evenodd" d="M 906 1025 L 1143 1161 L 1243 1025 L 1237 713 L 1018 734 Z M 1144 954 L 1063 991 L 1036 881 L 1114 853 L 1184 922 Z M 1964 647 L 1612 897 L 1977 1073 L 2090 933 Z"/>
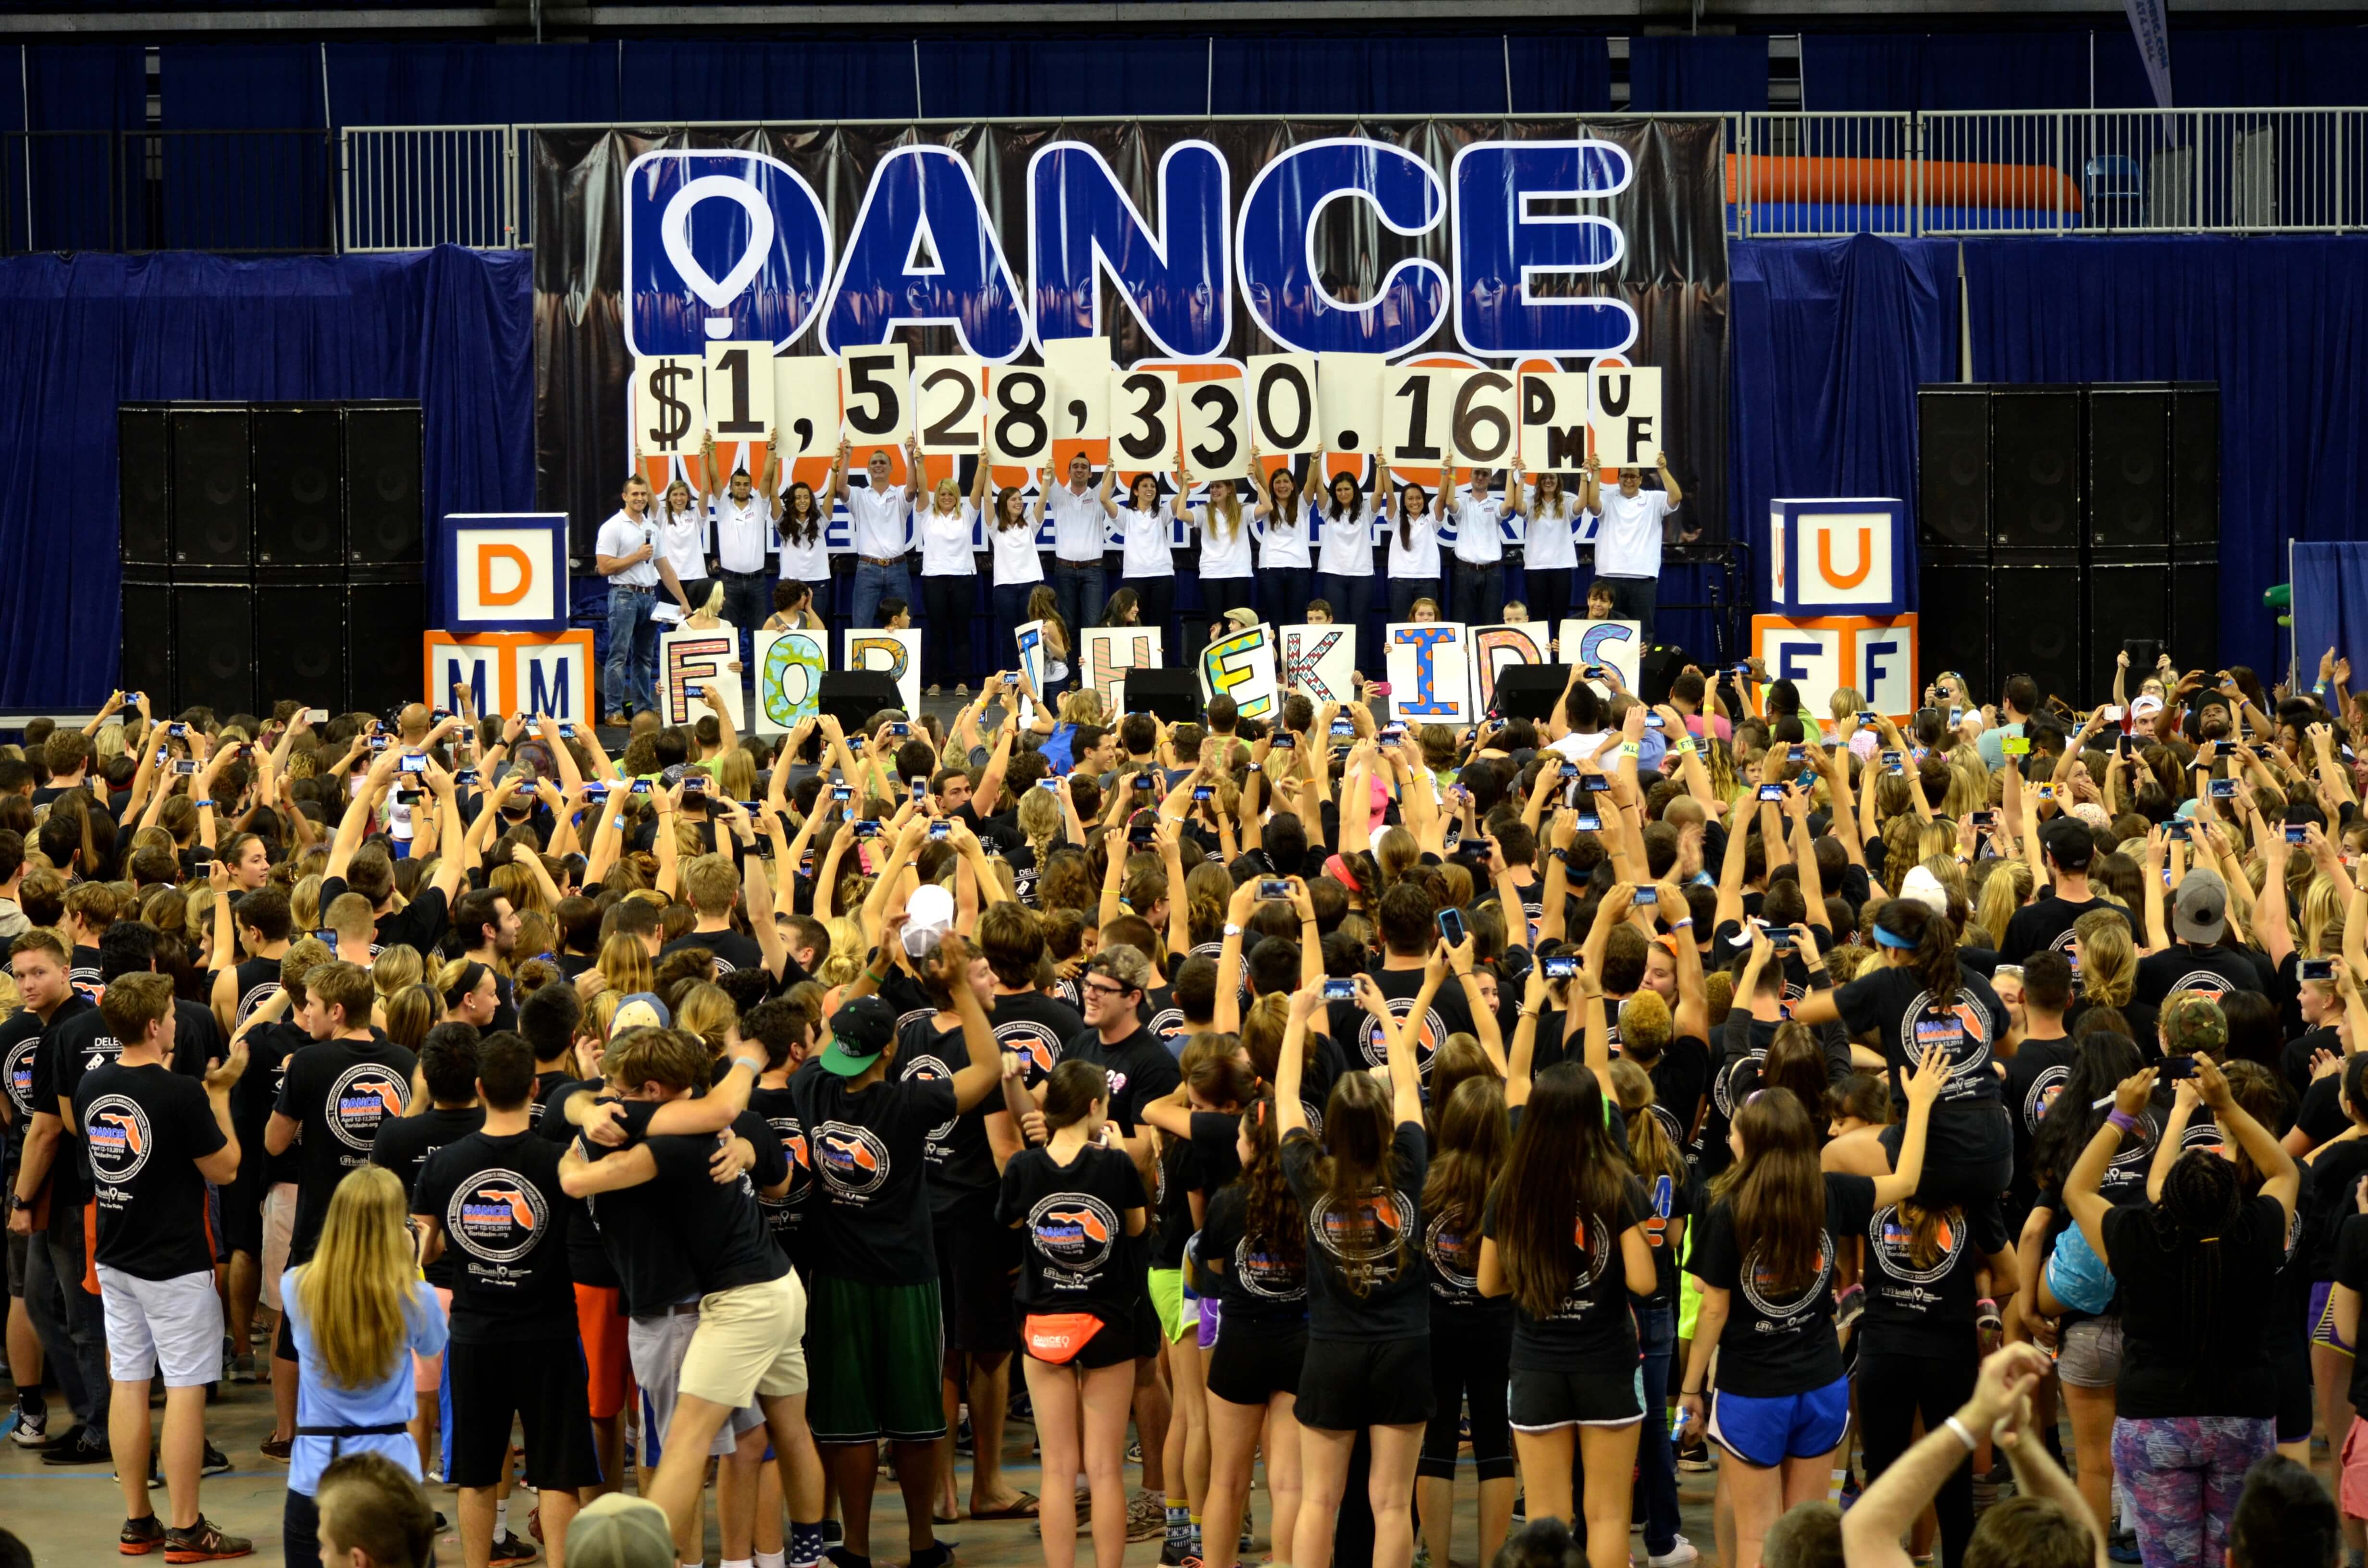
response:
<path id="1" fill-rule="evenodd" d="M 1956 379 L 1956 242 L 1736 242 L 1726 258 L 1729 533 L 1752 545 L 1757 604 L 1769 500 L 1897 495 L 1913 516 L 1916 386 Z M 1909 583 L 1913 557 L 1909 528 Z"/>

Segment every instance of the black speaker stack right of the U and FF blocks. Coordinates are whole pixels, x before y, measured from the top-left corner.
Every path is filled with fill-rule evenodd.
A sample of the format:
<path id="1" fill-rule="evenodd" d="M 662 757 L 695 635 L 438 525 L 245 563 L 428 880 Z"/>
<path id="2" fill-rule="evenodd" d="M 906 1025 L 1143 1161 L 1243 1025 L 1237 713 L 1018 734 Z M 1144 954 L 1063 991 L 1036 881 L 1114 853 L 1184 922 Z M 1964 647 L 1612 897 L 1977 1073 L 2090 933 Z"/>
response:
<path id="1" fill-rule="evenodd" d="M 1916 426 L 1928 673 L 2079 706 L 2124 642 L 2219 661 L 2216 381 L 1920 386 Z"/>

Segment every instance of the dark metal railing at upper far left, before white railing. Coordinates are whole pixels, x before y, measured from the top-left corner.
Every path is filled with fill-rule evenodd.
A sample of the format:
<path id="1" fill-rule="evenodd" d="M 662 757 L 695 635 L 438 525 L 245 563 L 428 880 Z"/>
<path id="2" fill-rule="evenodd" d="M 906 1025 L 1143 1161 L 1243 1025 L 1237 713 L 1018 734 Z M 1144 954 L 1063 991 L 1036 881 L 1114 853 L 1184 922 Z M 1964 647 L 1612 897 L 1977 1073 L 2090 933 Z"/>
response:
<path id="1" fill-rule="evenodd" d="M 334 249 L 327 130 L 0 133 L 0 251 Z"/>

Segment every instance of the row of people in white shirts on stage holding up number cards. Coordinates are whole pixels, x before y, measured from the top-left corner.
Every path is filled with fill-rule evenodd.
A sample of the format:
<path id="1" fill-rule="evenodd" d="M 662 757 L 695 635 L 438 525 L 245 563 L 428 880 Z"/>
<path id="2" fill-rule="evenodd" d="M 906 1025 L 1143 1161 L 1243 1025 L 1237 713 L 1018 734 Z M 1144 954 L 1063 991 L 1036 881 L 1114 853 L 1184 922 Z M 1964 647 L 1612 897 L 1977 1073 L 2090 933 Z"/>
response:
<path id="1" fill-rule="evenodd" d="M 824 533 L 838 512 L 850 550 L 836 625 L 900 628 L 916 616 L 931 694 L 969 696 L 1009 666 L 1009 644 L 995 637 L 1028 621 L 1047 623 L 1061 661 L 1087 625 L 1160 628 L 1167 647 L 1184 651 L 1179 576 L 1198 585 L 1198 623 L 1208 628 L 1224 628 L 1227 616 L 1357 628 L 1366 670 L 1383 668 L 1381 628 L 1402 621 L 1534 618 L 1556 628 L 1587 613 L 1636 621 L 1650 640 L 1662 545 L 1684 502 L 1667 452 L 1650 490 L 1643 469 L 1523 478 L 1516 464 L 1473 469 L 1437 493 L 1399 483 L 1383 462 L 1362 478 L 1326 481 L 1314 457 L 1276 462 L 1255 450 L 1241 481 L 1196 481 L 1182 460 L 1134 474 L 1113 462 L 1096 476 L 1080 452 L 1066 474 L 1047 464 L 1023 486 L 995 488 L 985 462 L 971 462 L 969 488 L 952 474 L 924 486 L 916 443 L 876 448 L 860 471 L 841 443 L 817 493 L 805 481 L 784 486 L 779 445 L 770 452 L 765 474 L 751 476 L 722 474 L 708 448 L 708 493 L 673 478 L 658 495 L 635 474 L 599 526 L 594 564 L 609 578 L 601 711 L 618 722 L 656 703 L 668 623 L 715 613 L 741 635 L 751 670 L 758 630 L 829 630 L 838 578 Z M 1047 516 L 1049 576 L 1040 550 Z M 1591 545 L 1594 580 L 1572 597 L 1582 545 Z M 1115 590 L 1111 554 L 1120 559 Z M 1520 573 L 1518 592 L 1508 571 Z M 973 623 L 995 635 L 973 637 Z"/>

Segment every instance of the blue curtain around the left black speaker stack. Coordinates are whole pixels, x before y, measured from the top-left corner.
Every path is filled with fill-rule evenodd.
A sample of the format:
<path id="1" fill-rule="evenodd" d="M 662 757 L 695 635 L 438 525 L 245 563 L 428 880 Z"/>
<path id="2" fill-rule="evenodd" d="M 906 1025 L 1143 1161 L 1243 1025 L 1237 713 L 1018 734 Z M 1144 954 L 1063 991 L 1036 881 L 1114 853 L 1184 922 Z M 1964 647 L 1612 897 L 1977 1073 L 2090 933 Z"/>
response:
<path id="1" fill-rule="evenodd" d="M 114 687 L 118 403 L 419 398 L 426 514 L 528 509 L 530 313 L 523 253 L 0 261 L 0 706 Z"/>

